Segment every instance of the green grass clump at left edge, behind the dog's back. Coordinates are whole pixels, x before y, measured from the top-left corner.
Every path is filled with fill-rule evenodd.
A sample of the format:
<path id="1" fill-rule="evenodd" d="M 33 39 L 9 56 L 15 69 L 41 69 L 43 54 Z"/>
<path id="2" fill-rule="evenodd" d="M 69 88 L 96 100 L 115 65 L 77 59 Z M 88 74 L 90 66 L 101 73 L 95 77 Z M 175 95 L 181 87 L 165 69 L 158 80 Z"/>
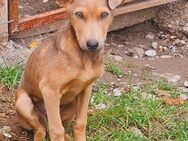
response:
<path id="1" fill-rule="evenodd" d="M 23 67 L 21 63 L 17 63 L 13 66 L 0 66 L 0 83 L 9 88 L 18 86 L 22 70 Z"/>

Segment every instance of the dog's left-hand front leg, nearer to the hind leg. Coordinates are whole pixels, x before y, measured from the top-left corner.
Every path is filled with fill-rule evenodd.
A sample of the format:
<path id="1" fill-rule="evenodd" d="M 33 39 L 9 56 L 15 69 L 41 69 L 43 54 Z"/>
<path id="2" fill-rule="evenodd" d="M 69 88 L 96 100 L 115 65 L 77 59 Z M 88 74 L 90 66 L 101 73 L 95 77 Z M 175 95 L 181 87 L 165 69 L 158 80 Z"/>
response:
<path id="1" fill-rule="evenodd" d="M 51 141 L 64 141 L 64 127 L 60 117 L 60 95 L 47 86 L 41 88 L 47 112 L 48 127 Z"/>

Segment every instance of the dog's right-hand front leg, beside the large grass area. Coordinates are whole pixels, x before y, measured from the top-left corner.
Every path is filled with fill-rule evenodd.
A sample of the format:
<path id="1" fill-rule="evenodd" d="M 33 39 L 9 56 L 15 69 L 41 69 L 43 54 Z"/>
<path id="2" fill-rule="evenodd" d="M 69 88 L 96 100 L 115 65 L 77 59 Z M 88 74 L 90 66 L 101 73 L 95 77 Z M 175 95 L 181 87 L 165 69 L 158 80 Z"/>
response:
<path id="1" fill-rule="evenodd" d="M 87 124 L 87 111 L 92 85 L 76 98 L 76 124 L 74 126 L 74 140 L 86 141 L 85 130 Z"/>

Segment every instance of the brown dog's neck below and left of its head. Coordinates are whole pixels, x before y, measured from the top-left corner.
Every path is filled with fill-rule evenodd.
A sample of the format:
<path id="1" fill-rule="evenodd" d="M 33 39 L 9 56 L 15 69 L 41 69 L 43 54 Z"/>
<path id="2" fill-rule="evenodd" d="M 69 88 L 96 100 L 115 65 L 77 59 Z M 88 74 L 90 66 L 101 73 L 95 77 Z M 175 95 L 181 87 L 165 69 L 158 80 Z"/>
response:
<path id="1" fill-rule="evenodd" d="M 74 55 L 72 59 L 80 59 L 81 62 L 103 63 L 103 49 L 98 52 L 84 51 L 80 48 L 76 33 L 71 25 L 59 31 L 56 37 L 58 50 L 67 55 Z"/>

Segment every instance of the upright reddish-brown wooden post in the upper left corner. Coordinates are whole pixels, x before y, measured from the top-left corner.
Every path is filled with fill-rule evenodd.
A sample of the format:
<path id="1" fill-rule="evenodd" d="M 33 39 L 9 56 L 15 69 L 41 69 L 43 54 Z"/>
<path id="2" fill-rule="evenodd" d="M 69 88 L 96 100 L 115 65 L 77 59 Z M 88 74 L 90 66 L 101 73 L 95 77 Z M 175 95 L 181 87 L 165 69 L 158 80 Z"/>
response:
<path id="1" fill-rule="evenodd" d="M 8 20 L 12 21 L 9 23 L 9 34 L 17 31 L 18 23 L 18 0 L 8 0 Z"/>

